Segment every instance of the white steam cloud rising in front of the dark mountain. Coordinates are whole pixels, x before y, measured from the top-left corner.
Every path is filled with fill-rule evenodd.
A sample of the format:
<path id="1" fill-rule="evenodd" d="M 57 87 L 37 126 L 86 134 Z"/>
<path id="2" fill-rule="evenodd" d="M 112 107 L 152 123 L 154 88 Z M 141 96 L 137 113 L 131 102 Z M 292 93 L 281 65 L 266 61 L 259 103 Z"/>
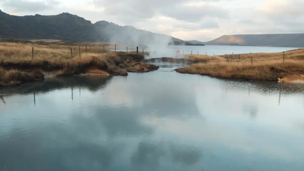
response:
<path id="1" fill-rule="evenodd" d="M 173 41 L 183 42 L 183 40 L 165 34 L 139 30 L 133 26 L 119 26 L 107 21 L 100 21 L 95 23 L 95 25 L 98 26 L 102 35 L 107 38 L 106 41 L 120 45 L 120 48 L 117 49 L 118 51 L 126 51 L 126 47 L 128 47 L 128 51 L 134 51 L 138 47 L 139 53 L 142 53 L 143 50 L 150 52 L 149 55 L 145 56 L 146 59 L 161 57 L 181 58 L 183 56 L 182 48 L 178 48 L 179 55 L 177 55 L 178 49 L 168 45 Z"/>

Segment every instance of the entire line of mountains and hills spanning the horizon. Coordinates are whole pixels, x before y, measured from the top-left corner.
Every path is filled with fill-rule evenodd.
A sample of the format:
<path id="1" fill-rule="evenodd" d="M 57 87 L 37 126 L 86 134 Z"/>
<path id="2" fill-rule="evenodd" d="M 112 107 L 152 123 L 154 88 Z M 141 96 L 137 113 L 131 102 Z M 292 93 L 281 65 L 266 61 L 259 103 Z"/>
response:
<path id="1" fill-rule="evenodd" d="M 214 40 L 181 40 L 166 34 L 153 33 L 133 26 L 120 26 L 105 20 L 92 23 L 83 17 L 63 12 L 57 15 L 9 15 L 0 9 L 0 37 L 15 39 L 56 39 L 78 42 L 116 42 L 140 44 L 206 44 L 237 46 L 304 47 L 304 33 L 235 34 Z"/>

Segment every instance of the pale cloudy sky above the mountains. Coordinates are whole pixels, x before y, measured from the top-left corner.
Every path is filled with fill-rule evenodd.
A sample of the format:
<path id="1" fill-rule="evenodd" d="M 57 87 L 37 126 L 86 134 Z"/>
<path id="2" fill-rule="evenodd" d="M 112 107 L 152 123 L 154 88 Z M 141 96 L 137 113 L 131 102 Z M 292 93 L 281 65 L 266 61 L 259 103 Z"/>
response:
<path id="1" fill-rule="evenodd" d="M 209 41 L 229 34 L 304 33 L 303 0 L 0 0 L 11 15 L 69 12 L 92 23 Z"/>

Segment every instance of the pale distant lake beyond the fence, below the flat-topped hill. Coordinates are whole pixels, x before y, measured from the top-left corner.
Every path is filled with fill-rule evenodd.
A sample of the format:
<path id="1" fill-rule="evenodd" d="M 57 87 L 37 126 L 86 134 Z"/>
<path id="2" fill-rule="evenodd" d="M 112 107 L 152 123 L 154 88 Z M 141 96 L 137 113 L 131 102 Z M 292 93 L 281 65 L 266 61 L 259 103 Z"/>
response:
<path id="1" fill-rule="evenodd" d="M 171 57 L 176 55 L 176 51 L 179 49 L 180 54 L 207 54 L 207 55 L 224 55 L 224 54 L 245 54 L 245 53 L 273 53 L 283 52 L 293 49 L 299 49 L 299 47 L 258 47 L 258 46 L 219 46 L 219 45 L 206 45 L 206 46 L 177 46 L 168 45 L 168 47 L 161 47 L 157 45 L 149 45 L 149 48 L 144 51 L 150 51 L 155 53 L 154 56 Z M 117 51 L 126 51 L 126 49 L 117 49 Z M 142 49 L 139 49 L 142 52 Z"/>

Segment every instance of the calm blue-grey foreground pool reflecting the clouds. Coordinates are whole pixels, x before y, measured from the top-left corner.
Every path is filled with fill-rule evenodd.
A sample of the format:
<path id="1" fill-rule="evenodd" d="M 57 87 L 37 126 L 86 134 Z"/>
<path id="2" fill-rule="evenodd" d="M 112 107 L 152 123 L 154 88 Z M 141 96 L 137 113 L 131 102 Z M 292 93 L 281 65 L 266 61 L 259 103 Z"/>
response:
<path id="1" fill-rule="evenodd" d="M 304 169 L 304 85 L 172 69 L 0 89 L 0 169 Z"/>

